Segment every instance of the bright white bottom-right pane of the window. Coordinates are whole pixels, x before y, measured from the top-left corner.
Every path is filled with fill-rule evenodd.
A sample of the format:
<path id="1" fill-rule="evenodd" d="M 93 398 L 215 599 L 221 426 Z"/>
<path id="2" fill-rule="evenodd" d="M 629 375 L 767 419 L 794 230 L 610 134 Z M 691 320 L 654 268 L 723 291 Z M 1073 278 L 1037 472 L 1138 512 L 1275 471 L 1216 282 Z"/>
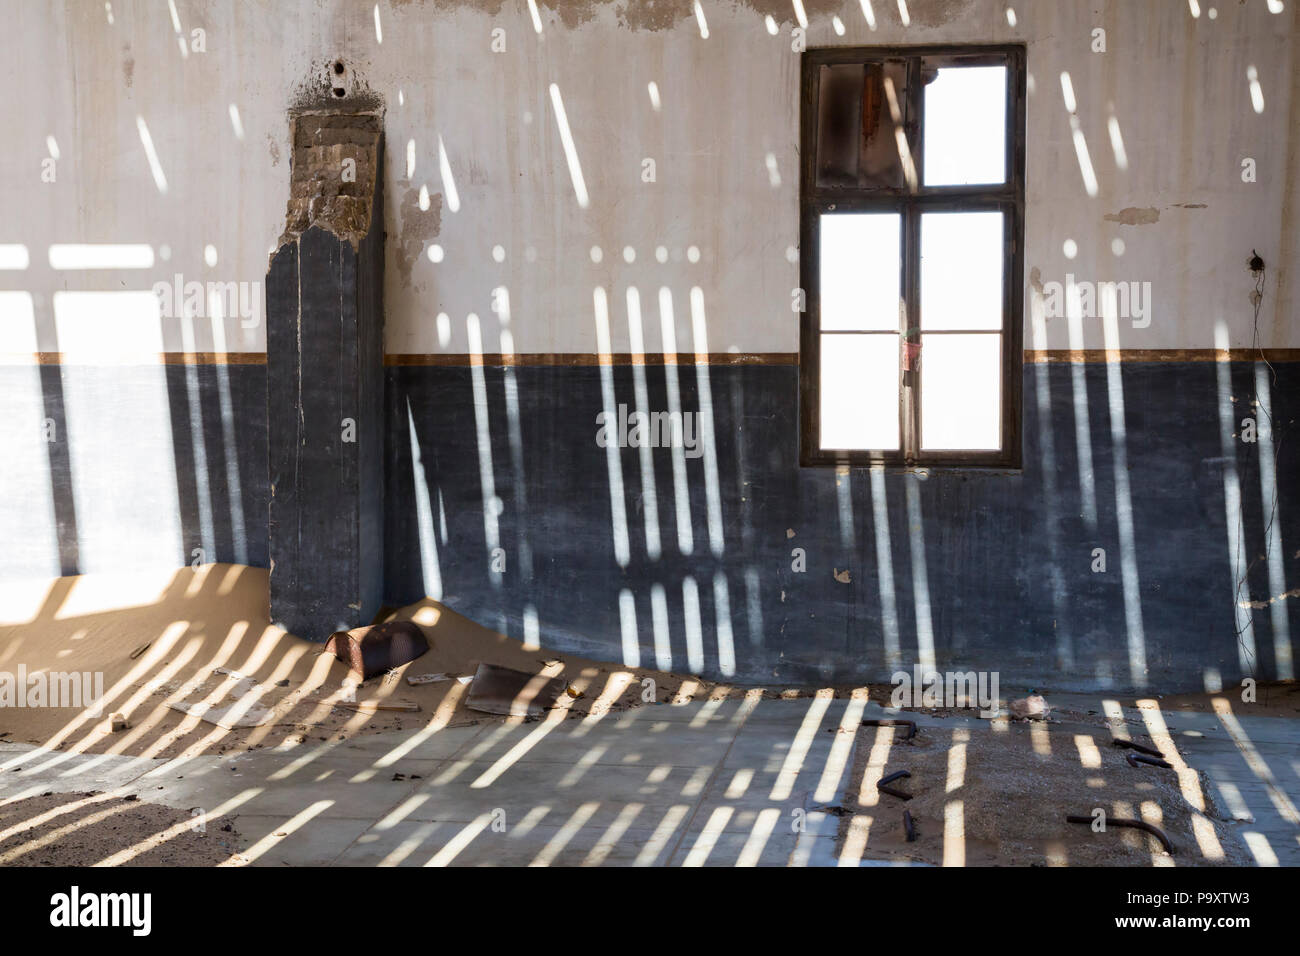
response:
<path id="1" fill-rule="evenodd" d="M 988 451 L 1002 446 L 1002 337 L 920 337 L 920 447 Z"/>

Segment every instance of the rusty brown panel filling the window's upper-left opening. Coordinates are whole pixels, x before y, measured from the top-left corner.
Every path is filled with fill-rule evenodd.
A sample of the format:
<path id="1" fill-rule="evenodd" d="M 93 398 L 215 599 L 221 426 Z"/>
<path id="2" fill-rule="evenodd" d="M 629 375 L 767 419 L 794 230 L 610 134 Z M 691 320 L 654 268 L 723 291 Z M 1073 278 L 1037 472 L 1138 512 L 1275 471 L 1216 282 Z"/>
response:
<path id="1" fill-rule="evenodd" d="M 906 77 L 906 65 L 898 61 L 822 66 L 818 186 L 901 189 L 907 183 Z"/>

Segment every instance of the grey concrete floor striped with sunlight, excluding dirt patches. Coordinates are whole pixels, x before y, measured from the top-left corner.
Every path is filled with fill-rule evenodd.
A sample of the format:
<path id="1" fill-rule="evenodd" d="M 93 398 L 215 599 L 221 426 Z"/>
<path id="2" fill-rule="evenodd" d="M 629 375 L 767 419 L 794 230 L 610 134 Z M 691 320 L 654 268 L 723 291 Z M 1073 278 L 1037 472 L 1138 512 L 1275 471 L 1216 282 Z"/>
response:
<path id="1" fill-rule="evenodd" d="M 1078 696 L 1069 706 L 1105 705 Z M 855 735 L 835 731 L 871 715 L 885 711 L 828 697 L 728 700 L 172 761 L 0 744 L 0 801 L 116 788 L 202 808 L 209 826 L 234 818 L 244 838 L 235 865 L 880 865 L 837 858 L 837 818 L 816 809 L 838 803 L 853 762 Z M 1300 865 L 1300 721 L 1160 719 L 1242 818 L 1235 832 L 1256 862 Z"/>

